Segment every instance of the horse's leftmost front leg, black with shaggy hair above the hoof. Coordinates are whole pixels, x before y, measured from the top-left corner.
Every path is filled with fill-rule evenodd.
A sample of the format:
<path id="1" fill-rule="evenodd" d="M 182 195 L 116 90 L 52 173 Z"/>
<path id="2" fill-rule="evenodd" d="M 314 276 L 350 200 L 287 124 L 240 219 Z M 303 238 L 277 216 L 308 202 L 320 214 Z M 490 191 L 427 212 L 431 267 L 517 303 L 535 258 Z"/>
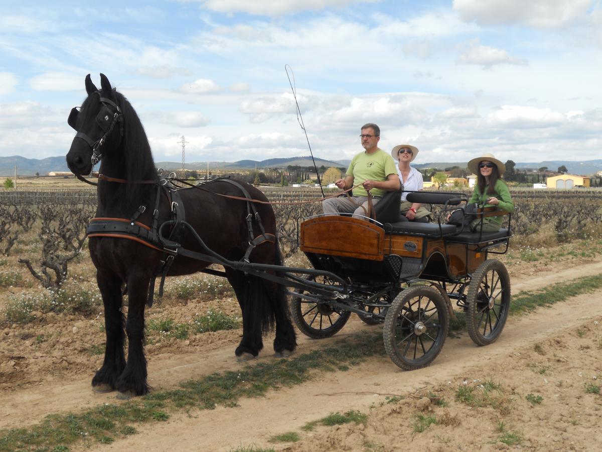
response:
<path id="1" fill-rule="evenodd" d="M 105 359 L 102 367 L 92 378 L 92 390 L 95 392 L 110 392 L 116 388 L 117 378 L 125 368 L 123 355 L 123 315 L 121 312 L 122 295 L 119 277 L 113 274 L 103 274 L 96 271 L 96 282 L 101 291 L 102 303 L 105 308 Z"/>

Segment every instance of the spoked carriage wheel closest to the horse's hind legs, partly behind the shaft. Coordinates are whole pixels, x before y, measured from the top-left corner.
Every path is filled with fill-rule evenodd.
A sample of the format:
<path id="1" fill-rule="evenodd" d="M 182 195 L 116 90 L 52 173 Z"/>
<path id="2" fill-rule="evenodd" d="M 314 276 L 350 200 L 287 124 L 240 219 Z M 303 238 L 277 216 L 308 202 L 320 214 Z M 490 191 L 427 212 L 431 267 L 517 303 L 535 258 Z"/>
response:
<path id="1" fill-rule="evenodd" d="M 309 280 L 332 284 L 328 278 L 310 277 Z M 312 339 L 334 336 L 349 320 L 350 311 L 335 309 L 326 303 L 314 303 L 300 297 L 291 300 L 291 316 L 297 328 Z"/>

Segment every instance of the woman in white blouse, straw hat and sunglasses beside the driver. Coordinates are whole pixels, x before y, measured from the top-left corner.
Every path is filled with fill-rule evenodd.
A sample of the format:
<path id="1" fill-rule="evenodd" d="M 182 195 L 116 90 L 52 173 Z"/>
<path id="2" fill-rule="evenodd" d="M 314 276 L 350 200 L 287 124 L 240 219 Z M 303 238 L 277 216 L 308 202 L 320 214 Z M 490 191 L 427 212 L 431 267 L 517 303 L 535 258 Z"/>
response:
<path id="1" fill-rule="evenodd" d="M 429 222 L 430 212 L 418 202 L 406 201 L 407 192 L 417 192 L 423 189 L 422 174 L 410 166 L 410 162 L 418 155 L 418 148 L 411 145 L 398 145 L 391 150 L 391 156 L 397 160 L 397 174 L 403 185 L 402 204 L 400 213 L 408 221 Z"/>

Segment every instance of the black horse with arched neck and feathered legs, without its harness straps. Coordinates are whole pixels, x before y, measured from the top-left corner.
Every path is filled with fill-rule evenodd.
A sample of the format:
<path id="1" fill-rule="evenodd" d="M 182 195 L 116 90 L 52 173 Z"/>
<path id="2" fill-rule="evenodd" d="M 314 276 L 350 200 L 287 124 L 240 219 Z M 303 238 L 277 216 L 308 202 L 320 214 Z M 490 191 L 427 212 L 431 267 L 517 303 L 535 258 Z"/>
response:
<path id="1" fill-rule="evenodd" d="M 145 229 L 152 222 L 159 225 L 172 217 L 173 204 L 159 188 L 151 154 L 151 146 L 137 114 L 127 99 L 101 74 L 101 89 L 85 78 L 87 98 L 78 111 L 69 116 L 69 125 L 78 133 L 73 139 L 67 165 L 78 176 L 87 175 L 100 161 L 102 177 L 98 181 L 98 209 L 101 219 L 131 220 Z M 265 195 L 249 184 L 239 182 L 250 197 L 267 201 Z M 239 186 L 240 186 L 239 185 Z M 265 241 L 249 251 L 249 228 L 258 231 L 261 225 L 253 216 L 249 225 L 249 204 L 237 184 L 217 180 L 203 189 L 178 190 L 185 206 L 185 221 L 215 253 L 229 260 L 244 257 L 253 263 L 282 265 L 278 240 Z M 157 198 L 160 198 L 157 200 Z M 142 209 L 140 206 L 144 206 Z M 260 216 L 266 235 L 276 234 L 275 215 L 269 204 L 253 204 Z M 155 209 L 155 207 L 157 207 Z M 155 210 L 156 219 L 154 218 Z M 143 212 L 141 212 L 143 211 Z M 138 214 L 136 213 L 138 212 Z M 141 212 L 141 213 L 140 213 Z M 138 215 L 138 216 L 137 216 Z M 135 221 L 134 221 L 135 219 Z M 89 232 L 89 229 L 88 229 Z M 185 250 L 202 252 L 194 234 L 185 232 L 181 245 Z M 110 237 L 90 234 L 90 256 L 96 266 L 96 281 L 104 303 L 107 344 L 104 363 L 92 379 L 96 392 L 117 389 L 118 397 L 143 395 L 147 385 L 144 358 L 144 309 L 154 278 L 168 254 L 160 246 L 148 246 L 145 240 L 131 237 Z M 205 269 L 210 262 L 177 256 L 167 275 L 186 275 Z M 234 288 L 243 314 L 243 338 L 235 350 L 238 360 L 257 356 L 263 347 L 262 332 L 276 324 L 274 350 L 277 356 L 288 356 L 296 347 L 295 332 L 288 312 L 285 291 L 279 284 L 234 268 L 225 268 L 225 275 Z M 122 315 L 122 293 L 126 287 L 128 313 L 125 331 L 128 335 L 127 361 L 124 351 L 125 334 Z"/>

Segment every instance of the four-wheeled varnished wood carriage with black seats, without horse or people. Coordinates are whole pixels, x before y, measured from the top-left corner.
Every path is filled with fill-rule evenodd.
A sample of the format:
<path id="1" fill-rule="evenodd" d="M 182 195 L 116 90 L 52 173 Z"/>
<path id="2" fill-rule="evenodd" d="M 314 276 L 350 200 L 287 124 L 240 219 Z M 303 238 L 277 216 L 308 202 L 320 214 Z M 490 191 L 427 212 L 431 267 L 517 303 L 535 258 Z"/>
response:
<path id="1" fill-rule="evenodd" d="M 439 205 L 436 222 L 399 221 L 400 195 L 376 204 L 376 220 L 318 215 L 300 224 L 300 249 L 314 267 L 305 278 L 287 273 L 301 290 L 290 290 L 291 314 L 307 336 L 337 333 L 352 313 L 383 324 L 385 350 L 400 368 L 429 365 L 447 337 L 455 301 L 465 312 L 468 334 L 488 345 L 501 334 L 510 307 L 510 278 L 490 254 L 507 252 L 510 214 L 495 207 L 477 217 L 507 215 L 495 233 L 444 224 L 462 204 L 462 193 L 413 192 L 408 201 Z M 367 221 L 370 220 L 370 221 Z"/>

